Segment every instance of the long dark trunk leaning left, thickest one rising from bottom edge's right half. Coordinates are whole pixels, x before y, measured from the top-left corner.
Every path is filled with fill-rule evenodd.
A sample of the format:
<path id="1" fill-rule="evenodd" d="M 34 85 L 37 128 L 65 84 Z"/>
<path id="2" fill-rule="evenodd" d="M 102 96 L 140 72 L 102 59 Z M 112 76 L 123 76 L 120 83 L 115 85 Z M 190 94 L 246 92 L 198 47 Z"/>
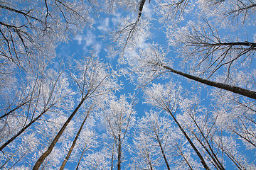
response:
<path id="1" fill-rule="evenodd" d="M 178 123 L 178 120 L 176 120 L 176 118 L 174 117 L 173 113 L 171 113 L 171 111 L 169 110 L 169 108 L 166 109 L 166 111 L 171 115 L 171 117 L 174 119 L 175 123 L 178 125 L 178 128 L 181 130 L 181 132 L 183 133 L 183 135 L 186 137 L 186 140 L 188 140 L 189 144 L 191 145 L 191 147 L 193 148 L 193 150 L 196 152 L 196 154 L 198 155 L 199 159 L 201 160 L 201 164 L 203 165 L 203 167 L 206 170 L 210 170 L 210 168 L 208 167 L 208 165 L 206 164 L 205 160 L 203 159 L 203 156 L 201 155 L 201 153 L 198 151 L 198 149 L 196 148 L 196 146 L 193 144 L 193 142 L 191 141 L 191 139 L 188 137 L 187 133 L 185 132 L 185 130 L 183 130 L 183 128 L 181 127 L 181 125 Z"/>

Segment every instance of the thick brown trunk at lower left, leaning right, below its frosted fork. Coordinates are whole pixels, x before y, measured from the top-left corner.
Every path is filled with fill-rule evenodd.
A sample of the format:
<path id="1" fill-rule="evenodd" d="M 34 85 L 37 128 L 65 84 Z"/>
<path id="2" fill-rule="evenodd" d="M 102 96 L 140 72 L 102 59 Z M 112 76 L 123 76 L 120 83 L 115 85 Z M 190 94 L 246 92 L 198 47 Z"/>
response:
<path id="1" fill-rule="evenodd" d="M 35 166 L 33 166 L 33 170 L 37 170 L 39 169 L 39 167 L 41 166 L 41 164 L 43 163 L 44 159 L 46 159 L 46 157 L 48 157 L 48 155 L 50 154 L 50 152 L 52 152 L 53 147 L 55 147 L 56 143 L 58 142 L 58 140 L 60 139 L 60 136 L 63 134 L 65 128 L 67 128 L 68 123 L 70 123 L 70 121 L 72 120 L 72 118 L 74 117 L 75 113 L 78 112 L 78 109 L 80 108 L 80 106 L 82 106 L 82 103 L 84 103 L 85 99 L 87 98 L 88 94 L 86 94 L 82 100 L 80 101 L 80 103 L 78 104 L 78 106 L 75 108 L 75 111 L 73 111 L 73 113 L 70 115 L 70 117 L 68 118 L 68 120 L 65 121 L 63 127 L 60 129 L 60 131 L 58 132 L 58 134 L 55 136 L 53 142 L 50 144 L 50 146 L 48 147 L 48 149 L 46 150 L 46 152 L 44 152 L 41 157 L 38 159 L 38 161 L 36 162 Z"/>

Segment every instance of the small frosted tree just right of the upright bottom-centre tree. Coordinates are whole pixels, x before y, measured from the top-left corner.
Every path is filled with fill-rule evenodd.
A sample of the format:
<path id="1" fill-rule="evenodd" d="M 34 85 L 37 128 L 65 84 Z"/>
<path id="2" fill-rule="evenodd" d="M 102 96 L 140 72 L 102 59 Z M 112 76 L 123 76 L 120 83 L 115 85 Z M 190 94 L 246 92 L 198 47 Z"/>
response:
<path id="1" fill-rule="evenodd" d="M 176 136 L 171 133 L 171 120 L 160 117 L 157 112 L 150 111 L 139 120 L 137 131 L 138 137 L 134 139 L 134 143 L 139 150 L 138 157 L 144 160 L 148 169 L 155 169 L 154 166 L 160 164 L 160 160 L 166 164 L 166 169 L 170 169 L 169 162 L 172 153 L 170 138 Z"/>

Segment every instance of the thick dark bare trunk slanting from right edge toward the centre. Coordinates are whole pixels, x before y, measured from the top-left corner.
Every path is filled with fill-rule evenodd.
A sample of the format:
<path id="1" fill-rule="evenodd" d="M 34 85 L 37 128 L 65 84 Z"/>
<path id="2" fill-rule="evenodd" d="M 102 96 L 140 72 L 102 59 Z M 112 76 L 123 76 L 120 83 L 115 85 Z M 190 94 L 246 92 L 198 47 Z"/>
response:
<path id="1" fill-rule="evenodd" d="M 240 94 L 242 96 L 247 96 L 249 98 L 256 99 L 256 92 L 255 91 L 250 91 L 250 90 L 247 90 L 247 89 L 240 88 L 238 86 L 231 86 L 231 85 L 228 85 L 228 84 L 223 84 L 223 83 L 218 83 L 218 82 L 215 82 L 215 81 L 210 81 L 210 80 L 207 80 L 207 79 L 202 79 L 200 77 L 195 77 L 195 76 L 192 76 L 190 74 L 186 74 L 186 73 L 183 73 L 183 72 L 176 71 L 174 69 L 171 69 L 171 67 L 168 67 L 168 66 L 165 66 L 165 65 L 162 65 L 162 67 L 164 67 L 164 69 L 168 69 L 170 72 L 173 72 L 175 74 L 179 74 L 179 75 L 181 75 L 183 77 L 186 77 L 188 79 L 193 79 L 193 80 L 198 81 L 202 84 L 207 84 L 209 86 L 214 86 L 214 87 L 217 87 L 219 89 L 224 89 L 224 90 L 227 90 L 227 91 L 231 91 L 235 94 Z"/>

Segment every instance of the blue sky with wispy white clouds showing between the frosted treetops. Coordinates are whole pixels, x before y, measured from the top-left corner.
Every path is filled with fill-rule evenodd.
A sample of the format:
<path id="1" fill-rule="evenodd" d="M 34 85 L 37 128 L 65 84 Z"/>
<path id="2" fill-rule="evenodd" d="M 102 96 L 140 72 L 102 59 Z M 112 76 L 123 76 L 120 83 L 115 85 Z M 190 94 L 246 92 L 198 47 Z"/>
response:
<path id="1" fill-rule="evenodd" d="M 129 57 L 129 55 L 136 56 L 139 54 L 138 52 L 139 49 L 144 50 L 147 47 L 151 47 L 152 44 L 157 43 L 159 45 L 162 45 L 163 47 L 165 46 L 166 48 L 169 48 L 169 53 L 167 58 L 171 60 L 172 66 L 174 68 L 187 71 L 186 70 L 187 68 L 181 67 L 181 64 L 180 64 L 181 58 L 177 57 L 178 54 L 176 50 L 177 49 L 179 50 L 179 48 L 171 47 L 171 42 L 166 38 L 166 33 L 168 33 L 168 27 L 166 26 L 168 26 L 168 24 L 171 23 L 171 21 L 161 22 L 159 19 L 159 16 L 155 14 L 156 11 L 154 11 L 152 4 L 154 4 L 154 1 L 151 1 L 151 4 L 149 4 L 149 2 L 146 1 L 146 4 L 144 5 L 144 8 L 143 8 L 142 18 L 140 20 L 141 22 L 144 22 L 146 21 L 144 19 L 149 19 L 151 23 L 145 26 L 150 26 L 151 28 L 149 28 L 149 30 L 146 30 L 145 33 L 140 33 L 139 36 L 135 38 L 134 48 L 132 50 L 131 49 L 126 50 L 124 52 L 124 56 L 126 56 L 127 58 Z M 195 7 L 194 10 L 198 10 L 198 8 Z M 196 16 L 198 13 L 194 12 L 193 14 L 193 12 L 194 11 L 186 11 L 183 20 L 178 24 L 179 28 L 186 26 L 186 23 L 188 21 L 196 20 L 194 16 Z M 134 19 L 137 18 L 137 12 L 127 12 L 127 11 L 122 11 L 122 9 L 120 9 L 120 10 L 117 10 L 115 13 L 108 14 L 108 15 L 103 12 L 98 14 L 99 14 L 99 17 L 95 18 L 95 20 L 93 21 L 92 27 L 86 27 L 83 30 L 83 33 L 72 35 L 70 36 L 70 40 L 68 40 L 68 42 L 62 42 L 60 43 L 60 45 L 58 45 L 56 49 L 56 53 L 58 57 L 55 60 L 53 60 L 53 63 L 55 63 L 55 67 L 58 66 L 60 60 L 62 60 L 63 62 L 67 62 L 70 59 L 70 57 L 74 59 L 82 59 L 82 56 L 87 56 L 91 51 L 94 51 L 95 55 L 97 55 L 97 57 L 99 57 L 103 62 L 111 64 L 112 68 L 115 71 L 119 71 L 120 68 L 127 69 L 128 67 L 127 64 L 122 64 L 119 62 L 120 59 L 122 60 L 122 57 L 117 55 L 118 53 L 112 54 L 112 52 L 110 51 L 109 47 L 111 47 L 112 45 L 114 45 L 114 47 L 118 47 L 117 44 L 113 43 L 113 40 L 111 39 L 112 34 L 110 32 L 112 32 L 114 28 L 117 28 L 119 23 L 122 23 L 121 21 L 122 18 L 130 17 L 130 20 L 134 21 Z M 252 18 L 250 18 L 250 21 L 254 22 L 255 17 L 253 16 Z M 170 27 L 171 26 L 172 25 L 170 24 Z M 222 26 L 218 26 L 218 28 L 220 27 Z M 256 40 L 254 23 L 247 24 L 245 27 L 238 26 L 236 28 L 235 27 L 229 28 L 228 26 L 226 26 L 225 28 L 224 27 L 220 28 L 219 33 L 220 33 L 220 36 L 228 35 L 228 38 L 231 38 L 231 35 L 234 35 L 234 36 L 239 35 L 241 41 L 253 42 Z M 130 60 L 132 59 L 130 58 Z M 248 69 L 248 72 L 252 72 L 252 69 L 255 69 L 255 66 L 256 65 L 252 62 L 252 65 Z M 132 77 L 129 77 L 129 75 L 124 76 L 120 74 L 118 81 L 119 81 L 119 84 L 122 84 L 122 89 L 119 89 L 119 91 L 116 91 L 115 95 L 117 96 L 117 98 L 119 98 L 123 94 L 126 94 L 126 95 L 136 94 L 139 102 L 135 106 L 135 111 L 137 112 L 136 119 L 139 120 L 139 118 L 142 118 L 142 116 L 144 116 L 145 112 L 149 112 L 153 107 L 146 105 L 142 89 L 137 89 L 136 84 L 134 84 L 134 82 L 132 82 L 130 78 L 135 78 L 135 76 L 132 75 Z M 213 94 L 214 88 L 210 88 L 208 86 L 201 86 L 198 83 L 195 84 L 195 81 L 185 79 L 175 74 L 166 74 L 166 77 L 164 78 L 165 79 L 156 79 L 154 80 L 154 83 L 166 84 L 170 80 L 176 81 L 178 82 L 177 84 L 181 84 L 181 86 L 183 86 L 184 91 L 191 92 L 187 94 L 188 97 L 189 95 L 193 95 L 193 96 L 198 95 L 198 98 L 201 101 L 201 105 L 208 108 L 209 112 L 214 112 L 214 109 L 215 109 L 214 105 L 216 103 L 215 101 L 211 101 L 213 97 L 210 96 L 210 94 Z M 247 100 L 244 100 L 242 98 L 241 101 L 243 102 Z M 252 100 L 249 99 L 248 101 L 252 101 Z M 156 110 L 156 111 L 159 111 L 159 110 Z M 79 115 L 77 119 L 80 119 L 80 118 L 81 118 L 81 115 Z M 97 121 L 97 119 L 96 119 L 96 122 L 94 122 L 95 120 L 90 120 L 90 121 L 91 123 L 89 124 L 95 123 L 94 129 L 97 132 L 97 135 L 101 136 L 102 135 L 101 133 L 105 132 L 103 125 L 100 123 L 100 121 Z M 73 132 L 72 130 L 70 131 Z M 133 135 L 134 134 L 129 136 L 129 140 L 128 140 L 128 142 L 130 142 L 131 144 L 133 142 L 133 138 L 132 138 Z M 228 134 L 225 134 L 225 135 L 228 135 Z M 245 157 L 250 159 L 251 162 L 254 162 L 256 159 L 255 152 L 253 152 L 254 150 L 253 149 L 246 150 L 245 145 L 243 145 L 243 143 L 240 140 L 238 140 L 238 138 L 239 137 L 237 137 L 236 140 L 238 142 L 238 145 L 241 146 L 239 150 L 243 152 Z M 59 143 L 58 146 L 59 145 L 61 144 Z M 14 147 L 13 145 L 10 145 L 10 146 Z M 60 151 L 60 152 L 63 152 L 63 151 Z M 132 159 L 132 155 L 129 154 L 128 151 L 124 152 L 124 155 L 126 157 L 125 159 L 127 160 L 127 162 L 124 162 L 123 166 L 127 166 L 127 164 L 131 163 L 130 159 Z M 223 157 L 226 157 L 226 156 L 223 156 Z M 27 157 L 26 159 L 29 159 L 29 157 Z M 24 159 L 23 162 L 21 162 L 21 165 L 27 162 L 26 159 Z M 195 159 L 198 161 L 197 158 Z M 60 158 L 60 161 L 62 161 L 62 158 Z M 66 167 L 67 169 L 74 169 L 74 166 L 75 165 L 73 163 L 68 163 Z M 225 166 L 227 169 L 233 169 L 233 165 L 230 163 L 230 161 L 228 161 L 227 164 L 225 164 Z M 163 169 L 164 167 L 165 166 L 163 165 Z"/>

